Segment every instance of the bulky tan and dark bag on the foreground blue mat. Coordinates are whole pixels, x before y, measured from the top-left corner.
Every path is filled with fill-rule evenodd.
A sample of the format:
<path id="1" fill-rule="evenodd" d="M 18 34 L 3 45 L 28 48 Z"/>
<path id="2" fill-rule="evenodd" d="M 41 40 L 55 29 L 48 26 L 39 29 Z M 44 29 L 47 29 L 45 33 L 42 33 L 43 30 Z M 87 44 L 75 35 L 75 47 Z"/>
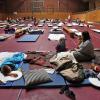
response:
<path id="1" fill-rule="evenodd" d="M 64 66 L 64 65 L 62 65 Z M 61 66 L 61 67 L 62 67 Z M 64 67 L 60 74 L 71 83 L 79 83 L 85 79 L 83 66 L 79 63 L 72 63 L 70 67 Z"/>

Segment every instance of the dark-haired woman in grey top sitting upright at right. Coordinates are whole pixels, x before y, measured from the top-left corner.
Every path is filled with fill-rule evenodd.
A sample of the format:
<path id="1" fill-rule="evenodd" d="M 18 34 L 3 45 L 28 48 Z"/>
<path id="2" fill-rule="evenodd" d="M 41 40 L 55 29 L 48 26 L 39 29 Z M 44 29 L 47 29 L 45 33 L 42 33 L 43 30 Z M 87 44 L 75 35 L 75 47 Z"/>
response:
<path id="1" fill-rule="evenodd" d="M 94 47 L 91 41 L 91 37 L 88 31 L 82 32 L 82 37 L 79 38 L 79 46 L 73 52 L 74 57 L 77 61 L 90 61 L 94 55 Z"/>

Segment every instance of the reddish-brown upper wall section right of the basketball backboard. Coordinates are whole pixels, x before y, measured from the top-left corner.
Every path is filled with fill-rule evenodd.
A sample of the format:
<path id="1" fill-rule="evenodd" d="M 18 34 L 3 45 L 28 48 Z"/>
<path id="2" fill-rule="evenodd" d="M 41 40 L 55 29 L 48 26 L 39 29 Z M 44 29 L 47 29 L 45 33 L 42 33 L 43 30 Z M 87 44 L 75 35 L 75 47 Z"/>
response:
<path id="1" fill-rule="evenodd" d="M 45 0 L 44 8 L 49 8 L 54 11 L 83 11 L 88 9 L 88 5 L 81 0 Z"/>

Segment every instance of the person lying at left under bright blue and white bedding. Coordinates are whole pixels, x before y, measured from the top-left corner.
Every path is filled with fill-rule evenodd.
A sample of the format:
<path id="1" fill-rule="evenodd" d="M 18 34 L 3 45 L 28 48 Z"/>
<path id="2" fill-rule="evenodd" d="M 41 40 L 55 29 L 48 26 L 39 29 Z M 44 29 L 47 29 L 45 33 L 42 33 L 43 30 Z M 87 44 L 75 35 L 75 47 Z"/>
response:
<path id="1" fill-rule="evenodd" d="M 19 77 L 17 71 L 20 67 L 19 64 L 26 57 L 27 55 L 22 52 L 0 52 L 0 75 L 3 74 L 5 77 L 10 76 L 17 79 Z"/>

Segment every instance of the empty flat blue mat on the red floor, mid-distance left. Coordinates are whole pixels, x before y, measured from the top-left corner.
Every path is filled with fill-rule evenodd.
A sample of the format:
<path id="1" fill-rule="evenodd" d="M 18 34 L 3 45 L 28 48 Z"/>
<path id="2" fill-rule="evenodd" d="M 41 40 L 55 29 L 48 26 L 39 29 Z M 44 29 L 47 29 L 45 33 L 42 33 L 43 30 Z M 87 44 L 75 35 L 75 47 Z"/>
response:
<path id="1" fill-rule="evenodd" d="M 34 35 L 26 34 L 26 35 L 21 36 L 17 40 L 17 42 L 36 42 L 39 36 L 40 36 L 39 34 L 34 34 Z"/>

